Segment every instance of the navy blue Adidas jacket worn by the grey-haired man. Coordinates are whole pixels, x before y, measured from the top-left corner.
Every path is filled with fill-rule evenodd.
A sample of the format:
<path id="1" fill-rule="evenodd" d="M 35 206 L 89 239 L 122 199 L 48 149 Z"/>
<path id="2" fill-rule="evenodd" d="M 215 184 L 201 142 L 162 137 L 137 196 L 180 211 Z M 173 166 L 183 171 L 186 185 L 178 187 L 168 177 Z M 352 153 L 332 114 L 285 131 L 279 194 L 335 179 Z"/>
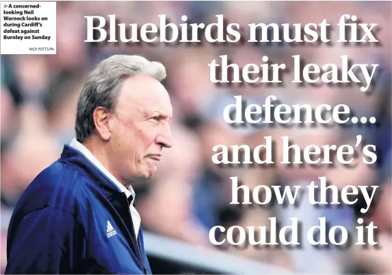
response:
<path id="1" fill-rule="evenodd" d="M 151 274 L 127 195 L 68 145 L 18 201 L 7 256 L 5 274 Z"/>

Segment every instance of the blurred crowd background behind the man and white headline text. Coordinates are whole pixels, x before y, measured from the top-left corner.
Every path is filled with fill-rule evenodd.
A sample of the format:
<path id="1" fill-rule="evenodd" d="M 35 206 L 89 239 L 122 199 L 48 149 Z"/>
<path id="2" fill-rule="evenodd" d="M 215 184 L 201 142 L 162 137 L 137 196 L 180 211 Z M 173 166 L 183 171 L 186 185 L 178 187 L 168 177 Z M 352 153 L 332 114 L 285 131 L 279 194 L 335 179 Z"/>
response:
<path id="1" fill-rule="evenodd" d="M 57 54 L 35 56 L 1 56 L 1 270 L 6 265 L 7 217 L 29 182 L 45 167 L 59 158 L 64 143 L 75 136 L 74 122 L 77 97 L 89 71 L 114 53 L 142 54 L 149 60 L 165 64 L 168 89 L 174 108 L 172 132 L 174 146 L 164 154 L 159 173 L 153 180 L 140 182 L 134 188 L 144 230 L 158 236 L 187 243 L 188 258 L 192 249 L 224 250 L 234 259 L 267 263 L 287 272 L 336 274 L 392 274 L 391 241 L 391 2 L 377 1 L 62 1 L 57 2 Z M 173 23 L 182 23 L 187 15 L 192 23 L 215 22 L 215 14 L 224 14 L 228 23 L 338 23 L 342 14 L 355 14 L 365 23 L 377 23 L 378 45 L 106 45 L 84 43 L 86 21 L 83 16 L 116 14 L 121 23 L 157 23 L 159 14 Z M 336 34 L 336 32 L 334 32 Z M 334 36 L 332 36 L 333 38 Z M 332 39 L 334 40 L 334 39 Z M 337 39 L 335 39 L 337 40 Z M 306 62 L 320 66 L 340 64 L 339 56 L 348 54 L 354 63 L 378 63 L 380 75 L 376 88 L 365 95 L 358 86 L 306 86 L 299 88 L 290 81 L 284 86 L 216 86 L 209 81 L 211 60 L 227 54 L 243 67 L 247 63 L 262 64 L 268 56 L 274 63 L 292 67 L 291 56 L 300 54 Z M 289 79 L 292 77 L 287 77 Z M 376 117 L 376 124 L 322 128 L 301 125 L 295 128 L 231 128 L 224 123 L 222 111 L 233 104 L 235 95 L 263 104 L 265 97 L 276 95 L 284 104 L 347 104 L 357 117 Z M 306 145 L 355 144 L 362 134 L 368 144 L 378 148 L 378 163 L 367 166 L 357 160 L 355 167 L 333 166 L 315 169 L 279 165 L 280 136 L 293 143 Z M 217 167 L 211 162 L 213 145 L 263 144 L 264 136 L 277 143 L 277 165 L 274 167 Z M 371 211 L 354 206 L 315 208 L 303 200 L 300 206 L 233 207 L 231 176 L 238 176 L 250 189 L 260 184 L 307 185 L 319 176 L 332 184 L 378 185 Z M 170 209 L 167 211 L 166 209 Z M 159 217 L 159 218 L 157 218 Z M 318 224 L 317 217 L 327 217 L 333 225 L 354 228 L 356 219 L 378 226 L 377 248 L 330 247 L 316 250 L 306 245 L 300 249 L 225 248 L 209 243 L 213 226 L 267 226 L 269 217 L 285 225 L 290 217 L 299 217 L 304 229 Z M 306 230 L 303 230 L 306 232 Z M 306 240 L 306 235 L 303 240 Z M 170 242 L 165 246 L 170 246 Z M 176 250 L 180 248 L 172 248 Z M 170 250 L 170 248 L 167 248 Z M 207 251 L 206 250 L 206 251 Z M 204 250 L 203 250 L 204 251 Z M 188 251 L 189 252 L 189 251 Z M 185 252 L 184 252 L 185 253 Z M 206 254 L 207 255 L 207 254 Z M 198 260 L 195 259 L 197 262 Z M 225 261 L 225 260 L 222 260 Z M 218 260 L 216 261 L 218 262 Z M 197 263 L 196 263 L 197 264 Z M 166 265 L 154 265 L 156 274 L 171 274 Z M 245 268 L 245 266 L 244 266 Z M 241 270 L 241 269 L 239 269 Z M 170 272 L 170 273 L 165 273 Z M 257 270 L 255 273 L 263 273 Z"/>

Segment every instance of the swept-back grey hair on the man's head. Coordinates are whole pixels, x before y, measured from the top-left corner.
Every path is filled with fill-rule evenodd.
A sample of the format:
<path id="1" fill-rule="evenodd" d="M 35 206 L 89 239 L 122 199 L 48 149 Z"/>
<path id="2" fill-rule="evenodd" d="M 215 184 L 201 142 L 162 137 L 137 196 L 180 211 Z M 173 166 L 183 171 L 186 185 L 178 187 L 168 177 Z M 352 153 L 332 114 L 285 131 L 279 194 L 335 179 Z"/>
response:
<path id="1" fill-rule="evenodd" d="M 90 73 L 77 102 L 75 132 L 78 141 L 82 142 L 94 132 L 94 110 L 99 106 L 113 110 L 122 84 L 133 75 L 149 75 L 161 82 L 166 78 L 166 68 L 142 56 L 114 55 Z"/>

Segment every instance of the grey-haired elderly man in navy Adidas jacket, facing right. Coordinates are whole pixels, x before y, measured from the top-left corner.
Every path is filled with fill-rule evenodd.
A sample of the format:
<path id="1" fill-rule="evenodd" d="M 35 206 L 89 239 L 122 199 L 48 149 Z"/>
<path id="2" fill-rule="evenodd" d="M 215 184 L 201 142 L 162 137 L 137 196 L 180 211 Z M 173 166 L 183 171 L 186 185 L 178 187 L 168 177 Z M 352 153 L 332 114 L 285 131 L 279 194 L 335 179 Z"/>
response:
<path id="1" fill-rule="evenodd" d="M 14 210 L 6 274 L 151 274 L 131 186 L 151 178 L 172 146 L 165 77 L 140 56 L 112 56 L 92 71 L 77 138 Z"/>

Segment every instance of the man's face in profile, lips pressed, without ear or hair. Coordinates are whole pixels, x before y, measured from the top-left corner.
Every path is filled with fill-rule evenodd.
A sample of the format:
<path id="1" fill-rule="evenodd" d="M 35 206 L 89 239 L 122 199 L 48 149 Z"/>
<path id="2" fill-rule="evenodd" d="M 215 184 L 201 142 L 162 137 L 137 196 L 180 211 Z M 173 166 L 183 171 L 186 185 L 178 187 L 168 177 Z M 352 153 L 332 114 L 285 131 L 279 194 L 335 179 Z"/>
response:
<path id="1" fill-rule="evenodd" d="M 172 147 L 172 105 L 166 88 L 153 77 L 127 79 L 120 91 L 110 136 L 120 180 L 151 178 L 164 147 Z"/>

